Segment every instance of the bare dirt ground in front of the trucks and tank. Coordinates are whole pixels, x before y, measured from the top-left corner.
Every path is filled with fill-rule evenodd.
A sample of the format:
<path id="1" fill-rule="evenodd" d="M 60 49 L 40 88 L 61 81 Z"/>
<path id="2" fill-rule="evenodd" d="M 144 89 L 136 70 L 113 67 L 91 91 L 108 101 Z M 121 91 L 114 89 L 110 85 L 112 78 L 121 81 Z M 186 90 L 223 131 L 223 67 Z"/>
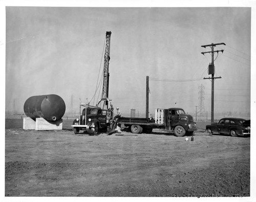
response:
<path id="1" fill-rule="evenodd" d="M 6 120 L 5 196 L 250 196 L 250 137 L 108 136 Z M 188 141 L 185 141 L 188 138 Z"/>

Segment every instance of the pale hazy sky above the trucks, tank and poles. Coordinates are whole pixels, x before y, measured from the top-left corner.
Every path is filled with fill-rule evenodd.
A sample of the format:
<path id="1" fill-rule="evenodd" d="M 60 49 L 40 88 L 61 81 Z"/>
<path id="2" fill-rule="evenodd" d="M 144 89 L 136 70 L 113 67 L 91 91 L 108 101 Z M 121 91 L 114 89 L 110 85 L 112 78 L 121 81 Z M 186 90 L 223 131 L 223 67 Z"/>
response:
<path id="1" fill-rule="evenodd" d="M 173 106 L 194 113 L 203 85 L 209 117 L 211 82 L 203 78 L 211 56 L 201 46 L 220 42 L 226 46 L 215 47 L 224 50 L 215 54 L 215 76 L 222 77 L 215 80 L 215 111 L 250 111 L 249 7 L 6 7 L 6 110 L 15 102 L 23 111 L 29 97 L 57 94 L 66 112 L 73 97 L 78 112 L 79 98 L 90 101 L 95 93 L 106 31 L 109 98 L 123 113 L 145 114 L 150 76 L 150 113 Z"/>

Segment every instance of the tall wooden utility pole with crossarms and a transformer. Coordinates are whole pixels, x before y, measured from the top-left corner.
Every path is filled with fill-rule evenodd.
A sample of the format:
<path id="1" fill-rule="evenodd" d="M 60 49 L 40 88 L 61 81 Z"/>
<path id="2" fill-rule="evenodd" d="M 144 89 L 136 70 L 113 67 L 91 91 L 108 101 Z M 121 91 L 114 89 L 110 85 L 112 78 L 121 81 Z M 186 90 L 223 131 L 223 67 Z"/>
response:
<path id="1" fill-rule="evenodd" d="M 201 47 L 203 48 L 206 48 L 206 47 L 211 47 L 211 51 L 208 51 L 208 52 L 202 52 L 202 54 L 204 55 L 205 53 L 211 53 L 211 63 L 209 64 L 208 66 L 208 74 L 210 75 L 211 74 L 211 78 L 208 77 L 208 78 L 204 78 L 204 79 L 211 79 L 211 122 L 214 122 L 214 80 L 215 79 L 220 79 L 221 77 L 214 77 L 215 75 L 215 66 L 214 66 L 214 53 L 218 53 L 219 52 L 222 52 L 224 50 L 218 50 L 218 51 L 215 51 L 214 50 L 214 47 L 218 46 L 218 45 L 225 45 L 225 43 L 211 43 L 211 44 L 208 44 L 208 45 L 203 45 Z"/>

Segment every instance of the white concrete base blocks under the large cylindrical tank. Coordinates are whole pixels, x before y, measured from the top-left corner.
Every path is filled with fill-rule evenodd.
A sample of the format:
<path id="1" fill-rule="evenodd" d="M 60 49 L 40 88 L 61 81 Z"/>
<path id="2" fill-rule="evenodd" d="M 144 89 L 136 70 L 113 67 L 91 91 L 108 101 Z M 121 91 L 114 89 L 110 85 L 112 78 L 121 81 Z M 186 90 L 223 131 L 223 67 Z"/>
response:
<path id="1" fill-rule="evenodd" d="M 23 129 L 25 130 L 62 130 L 62 119 L 58 121 L 46 121 L 44 118 L 36 118 L 34 121 L 30 117 L 23 119 Z"/>

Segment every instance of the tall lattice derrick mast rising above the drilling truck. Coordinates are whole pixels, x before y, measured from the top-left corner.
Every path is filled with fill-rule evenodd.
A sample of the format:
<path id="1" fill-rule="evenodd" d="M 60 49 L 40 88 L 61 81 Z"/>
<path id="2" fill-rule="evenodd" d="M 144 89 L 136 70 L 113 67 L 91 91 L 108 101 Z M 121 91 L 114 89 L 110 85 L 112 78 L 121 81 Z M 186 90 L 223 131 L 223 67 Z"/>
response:
<path id="1" fill-rule="evenodd" d="M 102 109 L 109 108 L 109 61 L 110 61 L 110 36 L 111 32 L 106 32 L 104 69 L 103 69 L 103 88 L 100 102 L 103 102 Z M 98 105 L 99 105 L 98 103 Z M 98 106 L 97 105 L 97 106 Z"/>

